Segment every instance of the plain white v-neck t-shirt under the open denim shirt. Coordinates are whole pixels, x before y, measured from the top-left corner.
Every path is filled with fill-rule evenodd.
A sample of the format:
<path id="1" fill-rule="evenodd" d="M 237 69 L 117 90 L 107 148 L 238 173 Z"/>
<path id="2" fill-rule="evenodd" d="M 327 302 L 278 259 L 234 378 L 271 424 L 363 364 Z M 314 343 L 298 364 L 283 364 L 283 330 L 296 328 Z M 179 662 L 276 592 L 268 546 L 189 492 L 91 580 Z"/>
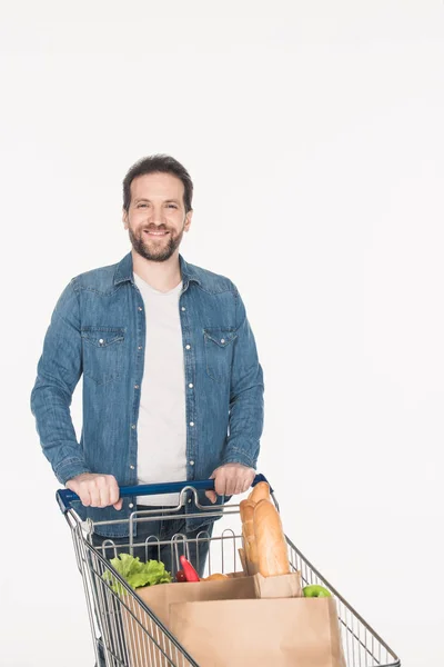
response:
<path id="1" fill-rule="evenodd" d="M 179 298 L 182 282 L 161 292 L 134 273 L 145 310 L 147 340 L 138 421 L 138 481 L 186 479 L 185 369 Z M 138 505 L 179 504 L 179 494 L 141 496 Z"/>

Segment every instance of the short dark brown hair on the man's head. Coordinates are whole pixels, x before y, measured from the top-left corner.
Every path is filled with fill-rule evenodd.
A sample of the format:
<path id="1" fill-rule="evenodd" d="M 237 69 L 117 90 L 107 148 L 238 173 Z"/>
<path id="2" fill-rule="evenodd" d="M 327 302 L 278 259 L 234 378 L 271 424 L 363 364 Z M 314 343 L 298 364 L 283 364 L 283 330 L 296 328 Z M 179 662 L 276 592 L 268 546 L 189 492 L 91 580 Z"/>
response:
<path id="1" fill-rule="evenodd" d="M 155 155 L 142 158 L 135 162 L 123 179 L 123 208 L 128 212 L 131 203 L 131 183 L 138 176 L 147 173 L 171 173 L 183 183 L 183 203 L 185 213 L 192 210 L 193 181 L 186 169 L 171 156 Z"/>

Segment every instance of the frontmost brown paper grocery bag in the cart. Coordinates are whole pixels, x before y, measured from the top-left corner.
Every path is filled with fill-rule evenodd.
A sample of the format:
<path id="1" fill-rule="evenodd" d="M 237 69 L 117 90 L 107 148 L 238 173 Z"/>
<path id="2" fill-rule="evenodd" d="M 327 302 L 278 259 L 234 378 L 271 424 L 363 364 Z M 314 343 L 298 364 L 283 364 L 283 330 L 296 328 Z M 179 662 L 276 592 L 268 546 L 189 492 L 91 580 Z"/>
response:
<path id="1" fill-rule="evenodd" d="M 200 667 L 345 667 L 334 598 L 173 604 L 170 627 Z"/>

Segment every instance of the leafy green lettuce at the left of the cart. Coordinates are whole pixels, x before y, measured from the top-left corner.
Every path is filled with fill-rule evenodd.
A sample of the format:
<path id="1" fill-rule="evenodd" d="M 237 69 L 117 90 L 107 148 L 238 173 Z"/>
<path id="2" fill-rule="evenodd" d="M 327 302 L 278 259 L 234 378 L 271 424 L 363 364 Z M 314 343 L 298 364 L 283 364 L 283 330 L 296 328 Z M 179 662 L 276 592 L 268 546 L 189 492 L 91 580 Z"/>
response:
<path id="1" fill-rule="evenodd" d="M 119 575 L 133 588 L 142 586 L 157 586 L 158 584 L 171 584 L 171 574 L 165 570 L 163 563 L 159 560 L 148 560 L 141 563 L 139 556 L 134 558 L 130 554 L 120 554 L 118 558 L 111 558 L 112 567 Z M 112 589 L 119 595 L 123 594 L 123 587 L 119 585 L 111 573 L 103 575 L 104 579 L 112 583 Z"/>

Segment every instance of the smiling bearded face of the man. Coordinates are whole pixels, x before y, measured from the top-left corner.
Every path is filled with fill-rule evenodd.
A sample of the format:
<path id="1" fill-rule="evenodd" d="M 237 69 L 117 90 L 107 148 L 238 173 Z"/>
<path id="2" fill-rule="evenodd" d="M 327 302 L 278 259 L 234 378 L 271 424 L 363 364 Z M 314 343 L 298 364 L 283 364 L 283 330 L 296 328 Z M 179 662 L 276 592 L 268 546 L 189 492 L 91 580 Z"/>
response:
<path id="1" fill-rule="evenodd" d="M 183 192 L 182 181 L 171 173 L 134 178 L 123 223 L 135 252 L 151 261 L 165 261 L 178 250 L 192 217 L 192 211 L 185 216 Z"/>

